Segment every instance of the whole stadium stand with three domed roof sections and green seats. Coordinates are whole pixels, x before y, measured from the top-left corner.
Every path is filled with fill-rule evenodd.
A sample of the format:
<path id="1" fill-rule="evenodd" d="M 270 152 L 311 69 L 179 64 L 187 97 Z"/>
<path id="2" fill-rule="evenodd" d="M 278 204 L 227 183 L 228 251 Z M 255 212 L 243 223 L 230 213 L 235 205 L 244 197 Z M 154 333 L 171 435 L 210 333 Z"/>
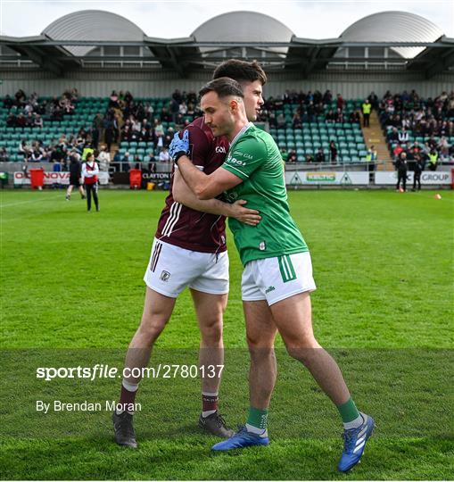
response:
<path id="1" fill-rule="evenodd" d="M 410 160 L 415 144 L 431 156 L 435 147 L 450 170 L 454 99 L 440 92 L 452 89 L 454 38 L 421 16 L 377 12 L 339 37 L 308 39 L 268 15 L 228 12 L 189 37 L 163 39 L 95 10 L 65 15 L 35 37 L 0 36 L 2 169 L 12 174 L 27 161 L 64 170 L 69 154 L 103 144 L 111 171 L 169 172 L 161 151 L 200 115 L 194 92 L 227 58 L 258 60 L 267 71 L 259 124 L 287 170 L 392 171 L 402 143 Z M 361 125 L 366 98 L 370 127 Z"/>

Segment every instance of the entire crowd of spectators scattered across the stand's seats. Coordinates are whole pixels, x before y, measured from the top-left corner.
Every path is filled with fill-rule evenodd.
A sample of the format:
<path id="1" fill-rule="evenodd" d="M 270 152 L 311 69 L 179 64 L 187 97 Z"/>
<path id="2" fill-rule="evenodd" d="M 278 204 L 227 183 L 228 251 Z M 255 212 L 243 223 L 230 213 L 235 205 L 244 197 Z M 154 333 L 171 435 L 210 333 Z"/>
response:
<path id="1" fill-rule="evenodd" d="M 435 98 L 421 99 L 415 90 L 392 95 L 386 92 L 381 101 L 375 93 L 367 97 L 367 101 L 380 114 L 384 129 L 387 129 L 387 140 L 392 145 L 394 159 L 405 153 L 409 162 L 423 159 L 433 167 L 439 161 L 454 162 L 454 92 Z M 365 101 L 366 102 L 366 101 Z M 23 90 L 4 97 L 4 107 L 8 109 L 6 125 L 10 127 L 43 127 L 43 119 L 62 120 L 63 116 L 75 112 L 78 104 L 78 91 L 73 88 L 65 91 L 62 96 L 50 100 L 39 100 L 36 93 L 26 96 Z M 271 129 L 288 127 L 288 107 L 292 105 L 293 129 L 301 129 L 303 123 L 325 117 L 327 124 L 339 122 L 359 123 L 361 113 L 358 108 L 347 112 L 347 103 L 341 94 L 334 98 L 330 90 L 322 94 L 314 92 L 296 92 L 287 90 L 283 96 L 268 97 L 260 112 L 259 121 L 267 121 Z M 335 105 L 335 107 L 334 107 Z M 112 162 L 120 166 L 138 164 L 146 159 L 151 164 L 168 162 L 168 147 L 174 132 L 184 128 L 194 118 L 201 115 L 197 107 L 197 96 L 194 92 L 175 90 L 169 100 L 156 104 L 135 99 L 128 91 L 112 91 L 105 112 L 97 112 L 87 129 L 80 128 L 74 134 L 61 134 L 48 144 L 40 140 L 39 135 L 33 135 L 36 140 L 24 138 L 17 147 L 17 153 L 23 156 L 25 162 L 58 162 L 63 169 L 70 155 L 81 156 L 84 149 L 95 150 L 95 157 L 101 169 L 107 170 Z M 33 129 L 35 132 L 35 129 Z M 415 137 L 425 137 L 424 142 L 414 140 Z M 145 153 L 125 154 L 112 145 L 128 145 L 127 143 L 145 143 Z M 130 144 L 129 144 L 130 145 Z M 112 152 L 112 159 L 111 159 Z M 297 162 L 294 150 L 288 153 L 282 151 L 286 162 Z M 433 156 L 437 162 L 433 163 Z M 308 154 L 306 162 L 335 163 L 338 148 L 331 142 L 328 150 L 318 149 L 314 154 Z M 0 148 L 0 161 L 8 160 L 4 147 Z"/>

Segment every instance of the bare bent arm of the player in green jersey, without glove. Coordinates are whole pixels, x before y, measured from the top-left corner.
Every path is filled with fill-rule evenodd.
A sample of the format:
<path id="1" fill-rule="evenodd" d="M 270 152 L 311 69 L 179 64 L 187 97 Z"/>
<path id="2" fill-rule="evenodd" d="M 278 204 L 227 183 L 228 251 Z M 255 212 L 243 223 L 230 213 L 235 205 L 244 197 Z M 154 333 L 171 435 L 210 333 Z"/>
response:
<path id="1" fill-rule="evenodd" d="M 243 182 L 243 179 L 222 167 L 207 175 L 198 170 L 186 155 L 179 157 L 177 166 L 197 199 L 212 199 Z"/>

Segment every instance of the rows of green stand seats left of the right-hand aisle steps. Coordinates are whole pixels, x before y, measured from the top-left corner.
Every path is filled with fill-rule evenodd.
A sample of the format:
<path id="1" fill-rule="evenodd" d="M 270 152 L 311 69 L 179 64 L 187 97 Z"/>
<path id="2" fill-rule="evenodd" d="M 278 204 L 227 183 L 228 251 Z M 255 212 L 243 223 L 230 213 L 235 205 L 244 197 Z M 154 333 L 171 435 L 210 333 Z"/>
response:
<path id="1" fill-rule="evenodd" d="M 349 100 L 339 106 L 339 101 L 331 100 L 328 94 L 324 96 L 326 102 L 321 101 L 317 91 L 315 96 L 311 92 L 287 92 L 266 101 L 260 122 L 268 124 L 267 129 L 283 153 L 294 151 L 291 162 L 307 162 L 308 158 L 315 161 L 319 149 L 329 161 L 332 141 L 338 148 L 337 163 L 365 160 L 367 150 L 359 121 L 330 118 L 330 112 L 341 111 L 341 120 L 354 120 L 362 100 Z M 153 162 L 161 148 L 169 146 L 173 133 L 200 115 L 195 94 L 178 91 L 159 98 L 135 98 L 123 92 L 112 92 L 110 97 L 73 97 L 70 112 L 62 107 L 64 99 L 65 95 L 59 100 L 36 94 L 27 98 L 22 90 L 14 100 L 4 97 L 0 120 L 6 127 L 0 129 L 0 147 L 11 162 L 66 162 L 71 151 L 82 154 L 84 147 L 93 144 L 97 148 L 100 142 L 113 145 L 113 149 L 118 142 L 121 159 L 128 152 L 135 162 Z M 102 122 L 98 124 L 99 115 Z M 37 119 L 41 120 L 39 125 Z M 59 149 L 65 157 L 55 157 Z M 34 151 L 41 156 L 34 156 Z"/>

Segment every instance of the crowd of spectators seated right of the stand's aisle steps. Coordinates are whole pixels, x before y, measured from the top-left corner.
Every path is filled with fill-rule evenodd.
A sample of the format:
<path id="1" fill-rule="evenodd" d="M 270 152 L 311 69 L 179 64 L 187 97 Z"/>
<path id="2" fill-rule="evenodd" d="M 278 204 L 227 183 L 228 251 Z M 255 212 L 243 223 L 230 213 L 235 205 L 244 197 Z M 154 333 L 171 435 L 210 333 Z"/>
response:
<path id="1" fill-rule="evenodd" d="M 410 163 L 427 162 L 432 170 L 439 162 L 454 162 L 454 91 L 427 99 L 415 90 L 388 91 L 379 109 L 395 162 L 404 156 Z"/>

